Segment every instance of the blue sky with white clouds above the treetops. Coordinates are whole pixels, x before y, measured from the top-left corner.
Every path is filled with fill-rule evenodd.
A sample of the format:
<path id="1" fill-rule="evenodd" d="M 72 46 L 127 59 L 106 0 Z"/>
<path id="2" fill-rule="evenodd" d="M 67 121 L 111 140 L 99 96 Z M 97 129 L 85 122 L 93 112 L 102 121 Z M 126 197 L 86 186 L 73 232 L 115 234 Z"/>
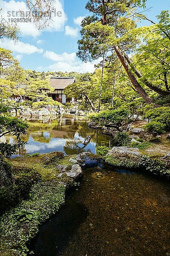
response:
<path id="1" fill-rule="evenodd" d="M 85 9 L 87 0 L 57 0 L 56 9 L 61 10 L 62 17 L 55 19 L 48 31 L 39 32 L 30 23 L 17 23 L 20 26 L 21 35 L 19 41 L 1 41 L 0 47 L 13 51 L 25 69 L 37 71 L 77 71 L 93 72 L 94 64 L 82 63 L 77 57 L 77 40 L 79 35 L 79 23 L 81 18 L 88 15 Z M 62 5 L 61 5 L 62 3 Z M 26 10 L 25 1 L 0 0 L 2 15 L 19 9 Z M 162 10 L 170 10 L 170 0 L 147 0 L 147 17 L 156 21 L 156 15 Z M 6 17 L 12 18 L 12 17 Z M 141 25 L 148 25 L 144 22 Z"/>

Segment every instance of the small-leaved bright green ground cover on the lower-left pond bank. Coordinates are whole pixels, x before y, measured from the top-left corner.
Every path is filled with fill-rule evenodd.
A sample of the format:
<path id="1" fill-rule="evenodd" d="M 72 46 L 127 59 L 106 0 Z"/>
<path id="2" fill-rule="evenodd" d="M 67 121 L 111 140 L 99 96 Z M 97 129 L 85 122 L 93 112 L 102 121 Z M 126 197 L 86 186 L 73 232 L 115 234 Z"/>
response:
<path id="1" fill-rule="evenodd" d="M 34 184 L 29 200 L 22 201 L 1 217 L 0 255 L 26 256 L 28 241 L 38 232 L 39 225 L 59 209 L 64 198 L 63 185 L 56 182 Z"/>

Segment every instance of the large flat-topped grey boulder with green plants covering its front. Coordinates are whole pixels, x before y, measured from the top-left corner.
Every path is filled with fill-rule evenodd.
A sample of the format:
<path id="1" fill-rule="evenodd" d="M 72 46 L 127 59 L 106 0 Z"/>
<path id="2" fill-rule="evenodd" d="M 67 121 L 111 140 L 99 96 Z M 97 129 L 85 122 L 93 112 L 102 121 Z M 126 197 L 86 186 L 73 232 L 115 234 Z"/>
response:
<path id="1" fill-rule="evenodd" d="M 115 167 L 138 168 L 141 156 L 138 148 L 113 147 L 104 159 Z"/>

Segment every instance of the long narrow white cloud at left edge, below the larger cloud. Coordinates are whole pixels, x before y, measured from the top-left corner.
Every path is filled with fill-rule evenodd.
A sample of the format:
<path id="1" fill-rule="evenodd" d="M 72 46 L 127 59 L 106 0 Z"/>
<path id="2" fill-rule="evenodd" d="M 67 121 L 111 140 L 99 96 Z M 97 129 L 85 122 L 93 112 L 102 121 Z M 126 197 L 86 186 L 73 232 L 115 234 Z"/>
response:
<path id="1" fill-rule="evenodd" d="M 20 54 L 32 54 L 35 52 L 42 53 L 43 49 L 39 49 L 32 44 L 23 43 L 21 41 L 10 41 L 10 40 L 3 40 L 0 41 L 0 47 L 9 49 L 12 52 L 17 52 Z"/>

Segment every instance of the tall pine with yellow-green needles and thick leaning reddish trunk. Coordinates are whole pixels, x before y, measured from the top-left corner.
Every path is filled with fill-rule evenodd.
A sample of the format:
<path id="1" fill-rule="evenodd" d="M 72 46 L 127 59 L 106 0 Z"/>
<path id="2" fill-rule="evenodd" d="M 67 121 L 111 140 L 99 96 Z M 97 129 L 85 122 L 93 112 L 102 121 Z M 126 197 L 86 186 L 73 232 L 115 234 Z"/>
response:
<path id="1" fill-rule="evenodd" d="M 87 61 L 99 57 L 99 52 L 102 54 L 104 49 L 114 50 L 135 90 L 147 103 L 153 103 L 153 99 L 139 84 L 135 76 L 139 75 L 139 72 L 136 69 L 131 69 L 132 63 L 127 55 L 140 42 L 135 33 L 129 34 L 129 31 L 136 29 L 136 23 L 130 18 L 130 15 L 134 7 L 144 6 L 144 3 L 145 1 L 136 0 L 122 0 L 121 2 L 89 0 L 86 8 L 94 15 L 82 22 L 82 39 L 78 42 L 79 52 L 77 55 L 83 61 Z M 157 107 L 156 104 L 155 106 Z"/>

